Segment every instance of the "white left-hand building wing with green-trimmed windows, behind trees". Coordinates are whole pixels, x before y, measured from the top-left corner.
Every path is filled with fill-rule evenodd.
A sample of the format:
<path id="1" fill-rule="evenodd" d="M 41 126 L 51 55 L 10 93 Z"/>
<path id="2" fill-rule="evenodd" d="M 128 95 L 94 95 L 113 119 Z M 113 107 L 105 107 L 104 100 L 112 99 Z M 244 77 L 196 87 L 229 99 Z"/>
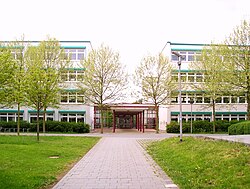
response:
<path id="1" fill-rule="evenodd" d="M 36 46 L 40 41 L 26 41 L 24 44 Z M 83 79 L 84 68 L 80 61 L 92 50 L 90 41 L 60 41 L 61 47 L 70 57 L 70 67 L 61 75 L 63 92 L 60 94 L 59 108 L 47 108 L 46 120 L 65 122 L 85 122 L 93 124 L 93 107 L 84 103 L 83 94 L 77 89 L 77 83 Z M 23 48 L 25 50 L 25 47 Z M 13 56 L 16 57 L 16 54 Z M 41 111 L 42 112 L 42 111 Z M 23 106 L 20 111 L 21 120 L 36 121 L 36 110 Z M 42 119 L 42 113 L 40 119 Z M 0 109 L 0 121 L 17 121 L 17 107 Z"/>

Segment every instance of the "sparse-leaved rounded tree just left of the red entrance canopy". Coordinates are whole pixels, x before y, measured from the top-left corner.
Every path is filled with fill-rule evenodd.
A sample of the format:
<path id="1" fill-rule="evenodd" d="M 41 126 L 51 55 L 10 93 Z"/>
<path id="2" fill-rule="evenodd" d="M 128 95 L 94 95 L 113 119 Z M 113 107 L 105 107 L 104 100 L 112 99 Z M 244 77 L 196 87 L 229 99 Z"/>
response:
<path id="1" fill-rule="evenodd" d="M 85 68 L 85 75 L 78 86 L 84 92 L 86 102 L 98 106 L 103 133 L 103 109 L 108 103 L 123 97 L 127 74 L 120 63 L 119 54 L 104 45 L 92 50 L 82 66 Z"/>

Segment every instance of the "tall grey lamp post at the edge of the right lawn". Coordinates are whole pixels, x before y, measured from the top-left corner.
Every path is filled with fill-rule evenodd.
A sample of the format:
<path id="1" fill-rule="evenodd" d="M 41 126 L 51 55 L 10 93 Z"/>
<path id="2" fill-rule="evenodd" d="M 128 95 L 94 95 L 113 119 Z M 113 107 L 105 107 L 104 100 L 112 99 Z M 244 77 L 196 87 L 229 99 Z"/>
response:
<path id="1" fill-rule="evenodd" d="M 180 142 L 182 142 L 182 99 L 181 99 L 181 59 L 182 56 L 178 52 L 172 52 L 175 56 L 178 57 L 178 83 L 179 83 L 179 104 L 180 104 L 180 116 L 179 116 L 179 123 L 180 123 Z"/>

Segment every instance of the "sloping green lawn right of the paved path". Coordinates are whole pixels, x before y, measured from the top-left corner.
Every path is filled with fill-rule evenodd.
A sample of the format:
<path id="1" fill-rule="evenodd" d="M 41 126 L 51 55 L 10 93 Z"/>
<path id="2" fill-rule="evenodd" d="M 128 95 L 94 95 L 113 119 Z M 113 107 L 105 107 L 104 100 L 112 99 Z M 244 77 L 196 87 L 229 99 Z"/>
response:
<path id="1" fill-rule="evenodd" d="M 180 188 L 250 188 L 250 148 L 184 137 L 154 142 L 149 154 Z"/>

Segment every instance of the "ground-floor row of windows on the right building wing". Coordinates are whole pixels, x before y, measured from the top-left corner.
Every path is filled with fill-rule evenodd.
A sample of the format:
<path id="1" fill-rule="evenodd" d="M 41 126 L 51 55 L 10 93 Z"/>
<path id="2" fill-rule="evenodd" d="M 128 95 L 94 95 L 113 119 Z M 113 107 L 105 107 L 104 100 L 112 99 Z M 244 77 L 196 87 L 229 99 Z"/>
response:
<path id="1" fill-rule="evenodd" d="M 183 121 L 191 121 L 191 118 L 193 121 L 198 121 L 198 120 L 206 120 L 206 121 L 212 121 L 212 116 L 210 115 L 205 115 L 205 114 L 195 114 L 191 115 L 190 114 L 183 114 L 182 115 L 182 120 Z M 215 116 L 216 120 L 227 120 L 227 121 L 232 121 L 232 120 L 246 120 L 247 116 L 246 115 L 237 115 L 237 114 L 229 114 L 229 115 L 216 115 Z M 171 115 L 171 121 L 177 121 L 179 120 L 178 115 Z"/>

